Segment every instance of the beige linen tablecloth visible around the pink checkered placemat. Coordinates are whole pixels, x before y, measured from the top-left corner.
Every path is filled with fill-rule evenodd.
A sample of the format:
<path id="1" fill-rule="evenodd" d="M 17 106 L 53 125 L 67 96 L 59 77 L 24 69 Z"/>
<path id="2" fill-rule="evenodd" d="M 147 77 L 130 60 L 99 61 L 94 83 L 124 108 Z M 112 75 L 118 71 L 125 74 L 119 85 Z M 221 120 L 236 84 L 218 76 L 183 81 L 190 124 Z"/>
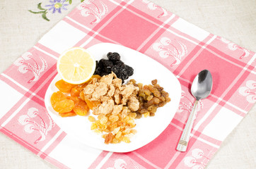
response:
<path id="1" fill-rule="evenodd" d="M 42 1 L 0 1 L 0 73 L 62 20 L 80 0 L 74 0 L 68 11 L 50 15 L 50 22 L 28 12 L 29 9 L 36 9 L 36 4 Z M 151 1 L 214 35 L 256 51 L 256 0 Z M 4 134 L 0 134 L 0 166 L 56 168 Z M 228 135 L 206 168 L 256 168 L 256 105 Z"/>

